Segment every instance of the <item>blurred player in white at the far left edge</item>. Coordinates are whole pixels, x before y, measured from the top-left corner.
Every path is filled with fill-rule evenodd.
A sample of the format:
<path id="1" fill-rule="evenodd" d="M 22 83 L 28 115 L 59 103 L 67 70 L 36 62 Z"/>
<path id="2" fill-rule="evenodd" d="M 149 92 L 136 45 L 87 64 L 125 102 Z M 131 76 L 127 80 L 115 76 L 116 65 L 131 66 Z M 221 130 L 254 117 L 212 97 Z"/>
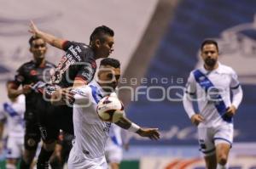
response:
<path id="1" fill-rule="evenodd" d="M 3 127 L 3 120 L 7 122 L 8 131 L 7 140 L 7 155 L 6 168 L 15 169 L 22 155 L 24 144 L 25 124 L 25 96 L 20 95 L 16 99 L 11 99 L 10 102 L 5 102 L 0 111 L 0 123 Z M 1 130 L 3 131 L 3 130 Z M 2 136 L 2 133 L 0 133 Z"/>

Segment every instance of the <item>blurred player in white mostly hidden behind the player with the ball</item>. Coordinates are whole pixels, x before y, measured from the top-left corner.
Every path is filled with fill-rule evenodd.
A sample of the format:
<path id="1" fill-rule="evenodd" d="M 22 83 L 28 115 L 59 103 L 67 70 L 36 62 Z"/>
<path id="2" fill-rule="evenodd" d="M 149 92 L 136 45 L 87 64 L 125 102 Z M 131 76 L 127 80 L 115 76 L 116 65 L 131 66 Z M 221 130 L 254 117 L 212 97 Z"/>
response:
<path id="1" fill-rule="evenodd" d="M 109 137 L 106 143 L 105 155 L 111 169 L 119 169 L 119 164 L 123 158 L 121 132 L 122 129 L 115 124 L 112 124 L 109 128 Z"/>

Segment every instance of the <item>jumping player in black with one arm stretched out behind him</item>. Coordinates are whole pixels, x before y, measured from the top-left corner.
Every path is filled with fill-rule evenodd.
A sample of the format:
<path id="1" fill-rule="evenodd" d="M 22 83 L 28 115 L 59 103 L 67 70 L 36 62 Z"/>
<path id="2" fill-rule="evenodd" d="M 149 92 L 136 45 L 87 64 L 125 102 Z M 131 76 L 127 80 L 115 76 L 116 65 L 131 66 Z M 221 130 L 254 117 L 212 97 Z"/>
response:
<path id="1" fill-rule="evenodd" d="M 57 66 L 52 83 L 38 83 L 34 86 L 44 94 L 42 104 L 40 102 L 40 130 L 44 141 L 38 157 L 38 169 L 48 168 L 49 157 L 55 149 L 58 132 L 73 133 L 73 108 L 67 105 L 52 106 L 63 101 L 69 103 L 73 100 L 73 94 L 67 88 L 87 85 L 96 72 L 96 59 L 107 58 L 113 52 L 113 30 L 105 25 L 96 27 L 90 35 L 90 44 L 70 42 L 63 40 L 44 31 L 38 30 L 31 22 L 30 32 L 36 37 L 43 38 L 46 42 L 66 52 Z M 62 97 L 64 96 L 64 97 Z M 47 112 L 47 113 L 45 113 Z"/>

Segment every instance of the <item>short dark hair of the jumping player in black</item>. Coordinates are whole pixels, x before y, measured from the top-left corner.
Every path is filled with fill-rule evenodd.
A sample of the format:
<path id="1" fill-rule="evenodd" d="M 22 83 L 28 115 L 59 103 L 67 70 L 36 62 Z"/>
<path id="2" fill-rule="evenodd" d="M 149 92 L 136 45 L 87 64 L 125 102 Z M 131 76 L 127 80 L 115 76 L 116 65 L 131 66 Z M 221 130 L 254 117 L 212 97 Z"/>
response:
<path id="1" fill-rule="evenodd" d="M 99 38 L 101 41 L 104 41 L 102 38 L 103 35 L 109 35 L 113 37 L 114 32 L 111 28 L 109 28 L 106 25 L 101 25 L 95 28 L 95 30 L 90 34 L 90 42 L 95 40 L 96 38 Z"/>

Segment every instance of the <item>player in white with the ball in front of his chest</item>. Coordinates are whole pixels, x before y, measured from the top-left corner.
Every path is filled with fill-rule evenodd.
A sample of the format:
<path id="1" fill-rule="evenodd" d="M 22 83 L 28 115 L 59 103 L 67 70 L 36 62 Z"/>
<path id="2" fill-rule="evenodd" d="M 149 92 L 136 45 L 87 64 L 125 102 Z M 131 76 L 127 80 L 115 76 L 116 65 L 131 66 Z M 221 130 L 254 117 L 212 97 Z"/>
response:
<path id="1" fill-rule="evenodd" d="M 101 121 L 96 113 L 100 99 L 112 93 L 117 87 L 120 65 L 117 59 L 102 59 L 97 81 L 75 91 L 73 105 L 73 126 L 75 140 L 68 159 L 69 169 L 106 169 L 105 144 L 108 139 L 110 122 Z M 157 128 L 141 128 L 122 117 L 116 124 L 119 127 L 137 132 L 142 137 L 159 139 Z"/>

